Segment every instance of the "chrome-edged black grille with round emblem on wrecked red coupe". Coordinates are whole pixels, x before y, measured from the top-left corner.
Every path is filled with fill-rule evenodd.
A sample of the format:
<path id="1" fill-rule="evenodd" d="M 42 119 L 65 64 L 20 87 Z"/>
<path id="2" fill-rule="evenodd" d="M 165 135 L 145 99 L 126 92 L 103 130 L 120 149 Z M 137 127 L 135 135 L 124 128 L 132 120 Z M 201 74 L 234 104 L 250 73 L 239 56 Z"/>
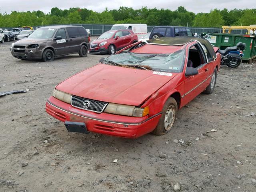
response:
<path id="1" fill-rule="evenodd" d="M 105 109 L 108 103 L 86 99 L 78 96 L 71 96 L 71 105 L 76 108 L 83 110 L 93 111 L 96 113 L 101 113 Z"/>

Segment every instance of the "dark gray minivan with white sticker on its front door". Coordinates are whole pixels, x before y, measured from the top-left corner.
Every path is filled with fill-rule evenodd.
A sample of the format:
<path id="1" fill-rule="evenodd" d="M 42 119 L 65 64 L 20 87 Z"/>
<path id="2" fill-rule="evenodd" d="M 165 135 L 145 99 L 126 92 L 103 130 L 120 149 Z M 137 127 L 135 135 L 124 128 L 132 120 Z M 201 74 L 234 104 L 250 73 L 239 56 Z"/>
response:
<path id="1" fill-rule="evenodd" d="M 28 38 L 12 44 L 12 56 L 22 60 L 42 59 L 78 53 L 86 57 L 90 37 L 82 26 L 47 26 L 35 30 Z"/>

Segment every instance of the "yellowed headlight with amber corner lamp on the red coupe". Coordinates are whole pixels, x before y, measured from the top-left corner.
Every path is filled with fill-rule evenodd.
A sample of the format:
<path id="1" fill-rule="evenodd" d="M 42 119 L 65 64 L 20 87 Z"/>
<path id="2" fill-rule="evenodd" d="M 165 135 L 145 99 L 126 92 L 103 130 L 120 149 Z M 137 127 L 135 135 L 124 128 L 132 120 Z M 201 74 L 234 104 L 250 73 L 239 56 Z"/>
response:
<path id="1" fill-rule="evenodd" d="M 149 114 L 148 107 L 139 108 L 131 105 L 122 105 L 116 103 L 109 103 L 104 112 L 134 117 L 144 117 Z"/>

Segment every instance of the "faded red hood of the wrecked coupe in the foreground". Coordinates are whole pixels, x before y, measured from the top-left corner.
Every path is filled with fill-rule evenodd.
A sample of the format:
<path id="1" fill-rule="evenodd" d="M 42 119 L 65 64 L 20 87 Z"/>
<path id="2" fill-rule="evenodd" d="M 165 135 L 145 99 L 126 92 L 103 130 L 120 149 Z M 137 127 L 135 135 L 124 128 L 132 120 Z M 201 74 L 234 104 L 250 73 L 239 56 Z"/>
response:
<path id="1" fill-rule="evenodd" d="M 177 75 L 168 74 L 98 64 L 68 78 L 56 89 L 83 98 L 139 106 Z"/>

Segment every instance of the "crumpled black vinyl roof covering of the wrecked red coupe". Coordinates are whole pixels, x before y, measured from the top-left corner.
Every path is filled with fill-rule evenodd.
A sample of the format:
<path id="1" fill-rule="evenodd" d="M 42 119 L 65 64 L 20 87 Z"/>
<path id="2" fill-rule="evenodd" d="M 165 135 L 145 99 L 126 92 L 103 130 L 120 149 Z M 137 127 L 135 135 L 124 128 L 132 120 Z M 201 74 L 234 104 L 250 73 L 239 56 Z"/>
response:
<path id="1" fill-rule="evenodd" d="M 214 49 L 212 48 L 212 45 L 208 42 L 208 40 L 203 39 L 203 38 L 198 38 L 198 37 L 162 37 L 162 38 L 158 38 L 158 39 L 150 39 L 147 42 L 148 42 L 148 44 L 182 46 L 182 45 L 185 45 L 188 42 L 191 42 L 193 40 L 198 41 L 202 45 L 205 46 L 205 48 L 207 49 L 207 54 L 210 54 L 210 58 L 212 58 L 210 60 L 208 59 L 209 61 L 212 61 L 217 57 Z"/>

